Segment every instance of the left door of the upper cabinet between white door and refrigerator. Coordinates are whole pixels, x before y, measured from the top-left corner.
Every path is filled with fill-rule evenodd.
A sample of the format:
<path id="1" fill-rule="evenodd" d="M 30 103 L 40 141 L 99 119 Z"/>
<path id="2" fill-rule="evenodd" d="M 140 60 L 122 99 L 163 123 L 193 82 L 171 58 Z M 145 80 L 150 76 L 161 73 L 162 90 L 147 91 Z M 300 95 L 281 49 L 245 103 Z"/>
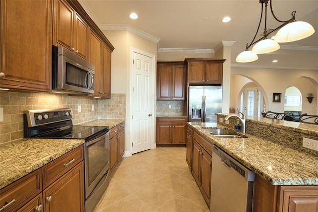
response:
<path id="1" fill-rule="evenodd" d="M 158 65 L 157 100 L 171 99 L 171 65 Z"/>

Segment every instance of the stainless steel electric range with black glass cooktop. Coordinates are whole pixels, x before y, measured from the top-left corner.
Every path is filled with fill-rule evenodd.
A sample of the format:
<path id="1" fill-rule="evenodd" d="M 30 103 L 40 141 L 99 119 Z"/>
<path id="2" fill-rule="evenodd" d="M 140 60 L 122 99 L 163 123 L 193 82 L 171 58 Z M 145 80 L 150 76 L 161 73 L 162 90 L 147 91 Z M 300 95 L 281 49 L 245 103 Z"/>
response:
<path id="1" fill-rule="evenodd" d="M 26 110 L 25 138 L 84 139 L 85 211 L 92 212 L 109 184 L 109 126 L 73 125 L 72 108 Z"/>

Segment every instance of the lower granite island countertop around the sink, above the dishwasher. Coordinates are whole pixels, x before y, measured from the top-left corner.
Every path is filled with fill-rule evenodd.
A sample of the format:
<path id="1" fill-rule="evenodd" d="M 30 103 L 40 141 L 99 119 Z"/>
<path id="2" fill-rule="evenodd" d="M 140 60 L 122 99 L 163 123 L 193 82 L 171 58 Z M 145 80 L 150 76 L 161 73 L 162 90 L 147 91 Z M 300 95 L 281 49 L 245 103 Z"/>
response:
<path id="1" fill-rule="evenodd" d="M 215 126 L 188 124 L 272 185 L 318 185 L 318 157 L 315 155 L 251 134 L 246 134 L 246 138 L 219 138 L 204 131 Z"/>

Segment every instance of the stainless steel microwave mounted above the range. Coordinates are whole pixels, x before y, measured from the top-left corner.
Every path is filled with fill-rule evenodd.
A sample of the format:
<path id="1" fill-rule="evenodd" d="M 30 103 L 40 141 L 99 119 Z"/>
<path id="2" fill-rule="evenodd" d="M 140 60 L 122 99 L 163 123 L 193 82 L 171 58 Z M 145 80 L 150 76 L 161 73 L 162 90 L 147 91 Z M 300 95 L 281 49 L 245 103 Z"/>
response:
<path id="1" fill-rule="evenodd" d="M 95 66 L 64 47 L 52 47 L 52 90 L 94 93 Z"/>

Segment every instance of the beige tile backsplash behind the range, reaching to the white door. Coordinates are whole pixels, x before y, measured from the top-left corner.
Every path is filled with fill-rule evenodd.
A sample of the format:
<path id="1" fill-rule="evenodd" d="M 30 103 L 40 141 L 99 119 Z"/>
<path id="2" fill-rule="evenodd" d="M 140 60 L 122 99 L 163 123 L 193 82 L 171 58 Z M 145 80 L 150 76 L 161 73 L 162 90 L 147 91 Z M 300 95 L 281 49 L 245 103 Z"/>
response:
<path id="1" fill-rule="evenodd" d="M 93 111 L 92 105 L 94 105 Z M 73 124 L 97 118 L 125 119 L 126 95 L 112 94 L 111 99 L 97 100 L 67 94 L 0 92 L 0 107 L 3 108 L 3 121 L 0 122 L 1 144 L 23 138 L 24 110 L 72 108 Z"/>

